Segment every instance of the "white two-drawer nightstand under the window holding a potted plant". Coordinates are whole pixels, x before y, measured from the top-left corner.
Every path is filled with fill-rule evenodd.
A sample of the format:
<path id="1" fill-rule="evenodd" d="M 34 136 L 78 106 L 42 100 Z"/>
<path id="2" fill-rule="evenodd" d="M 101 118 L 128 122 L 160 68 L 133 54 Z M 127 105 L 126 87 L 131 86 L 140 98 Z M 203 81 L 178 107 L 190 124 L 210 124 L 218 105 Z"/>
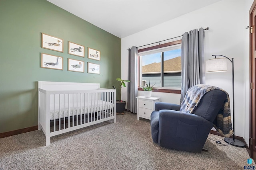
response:
<path id="1" fill-rule="evenodd" d="M 138 96 L 137 98 L 137 119 L 139 117 L 149 119 L 152 111 L 155 109 L 155 103 L 160 101 L 158 97 L 146 98 L 145 96 Z"/>

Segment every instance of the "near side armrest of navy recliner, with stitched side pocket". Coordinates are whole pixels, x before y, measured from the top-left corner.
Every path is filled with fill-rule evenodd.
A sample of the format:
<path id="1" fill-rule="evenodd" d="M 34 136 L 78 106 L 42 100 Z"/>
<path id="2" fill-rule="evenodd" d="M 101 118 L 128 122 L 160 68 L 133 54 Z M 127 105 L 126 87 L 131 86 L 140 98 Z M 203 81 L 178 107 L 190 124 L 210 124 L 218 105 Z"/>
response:
<path id="1" fill-rule="evenodd" d="M 158 145 L 201 152 L 212 127 L 212 122 L 192 113 L 160 110 Z"/>

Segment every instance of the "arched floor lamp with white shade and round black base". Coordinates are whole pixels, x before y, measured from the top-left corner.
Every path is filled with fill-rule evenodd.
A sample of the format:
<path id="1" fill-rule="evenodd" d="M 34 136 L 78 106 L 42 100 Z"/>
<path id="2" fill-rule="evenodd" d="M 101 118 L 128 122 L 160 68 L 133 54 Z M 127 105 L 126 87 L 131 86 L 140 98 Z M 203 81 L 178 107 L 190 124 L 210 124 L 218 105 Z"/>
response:
<path id="1" fill-rule="evenodd" d="M 206 61 L 206 72 L 220 72 L 227 71 L 227 60 L 232 63 L 232 87 L 233 87 L 233 138 L 225 137 L 224 141 L 235 147 L 245 147 L 245 144 L 238 139 L 235 139 L 235 103 L 234 103 L 234 59 L 231 60 L 224 55 L 212 55 L 215 59 Z M 216 58 L 216 56 L 222 56 L 225 58 Z"/>

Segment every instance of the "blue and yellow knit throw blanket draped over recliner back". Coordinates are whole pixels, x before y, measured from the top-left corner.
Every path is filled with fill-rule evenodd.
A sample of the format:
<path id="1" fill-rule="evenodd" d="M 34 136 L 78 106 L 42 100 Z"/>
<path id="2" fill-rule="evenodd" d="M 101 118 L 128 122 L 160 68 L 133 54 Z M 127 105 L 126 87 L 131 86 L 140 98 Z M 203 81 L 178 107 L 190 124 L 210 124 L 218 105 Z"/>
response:
<path id="1" fill-rule="evenodd" d="M 214 127 L 224 137 L 230 137 L 231 135 L 233 135 L 233 129 L 230 115 L 229 95 L 225 90 L 205 84 L 198 84 L 196 86 L 192 86 L 186 93 L 184 100 L 181 103 L 180 111 L 186 113 L 193 113 L 193 111 L 200 103 L 201 98 L 210 90 L 221 90 L 227 94 L 227 98 L 224 101 L 222 108 L 218 112 L 217 119 L 216 121 L 214 121 Z"/>

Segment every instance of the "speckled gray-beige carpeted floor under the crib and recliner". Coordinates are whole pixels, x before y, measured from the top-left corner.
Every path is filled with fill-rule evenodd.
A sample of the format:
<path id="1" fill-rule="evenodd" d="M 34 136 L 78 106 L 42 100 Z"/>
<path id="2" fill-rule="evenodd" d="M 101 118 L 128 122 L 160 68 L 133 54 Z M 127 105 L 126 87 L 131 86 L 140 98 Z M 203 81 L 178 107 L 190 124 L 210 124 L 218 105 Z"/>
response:
<path id="1" fill-rule="evenodd" d="M 223 139 L 209 134 L 209 138 Z M 224 141 L 222 141 L 225 143 Z M 208 152 L 190 153 L 154 144 L 150 120 L 126 112 L 103 122 L 51 137 L 42 131 L 0 139 L 0 170 L 243 170 L 245 148 L 219 146 L 207 139 Z M 250 166 L 254 166 L 253 162 Z"/>

